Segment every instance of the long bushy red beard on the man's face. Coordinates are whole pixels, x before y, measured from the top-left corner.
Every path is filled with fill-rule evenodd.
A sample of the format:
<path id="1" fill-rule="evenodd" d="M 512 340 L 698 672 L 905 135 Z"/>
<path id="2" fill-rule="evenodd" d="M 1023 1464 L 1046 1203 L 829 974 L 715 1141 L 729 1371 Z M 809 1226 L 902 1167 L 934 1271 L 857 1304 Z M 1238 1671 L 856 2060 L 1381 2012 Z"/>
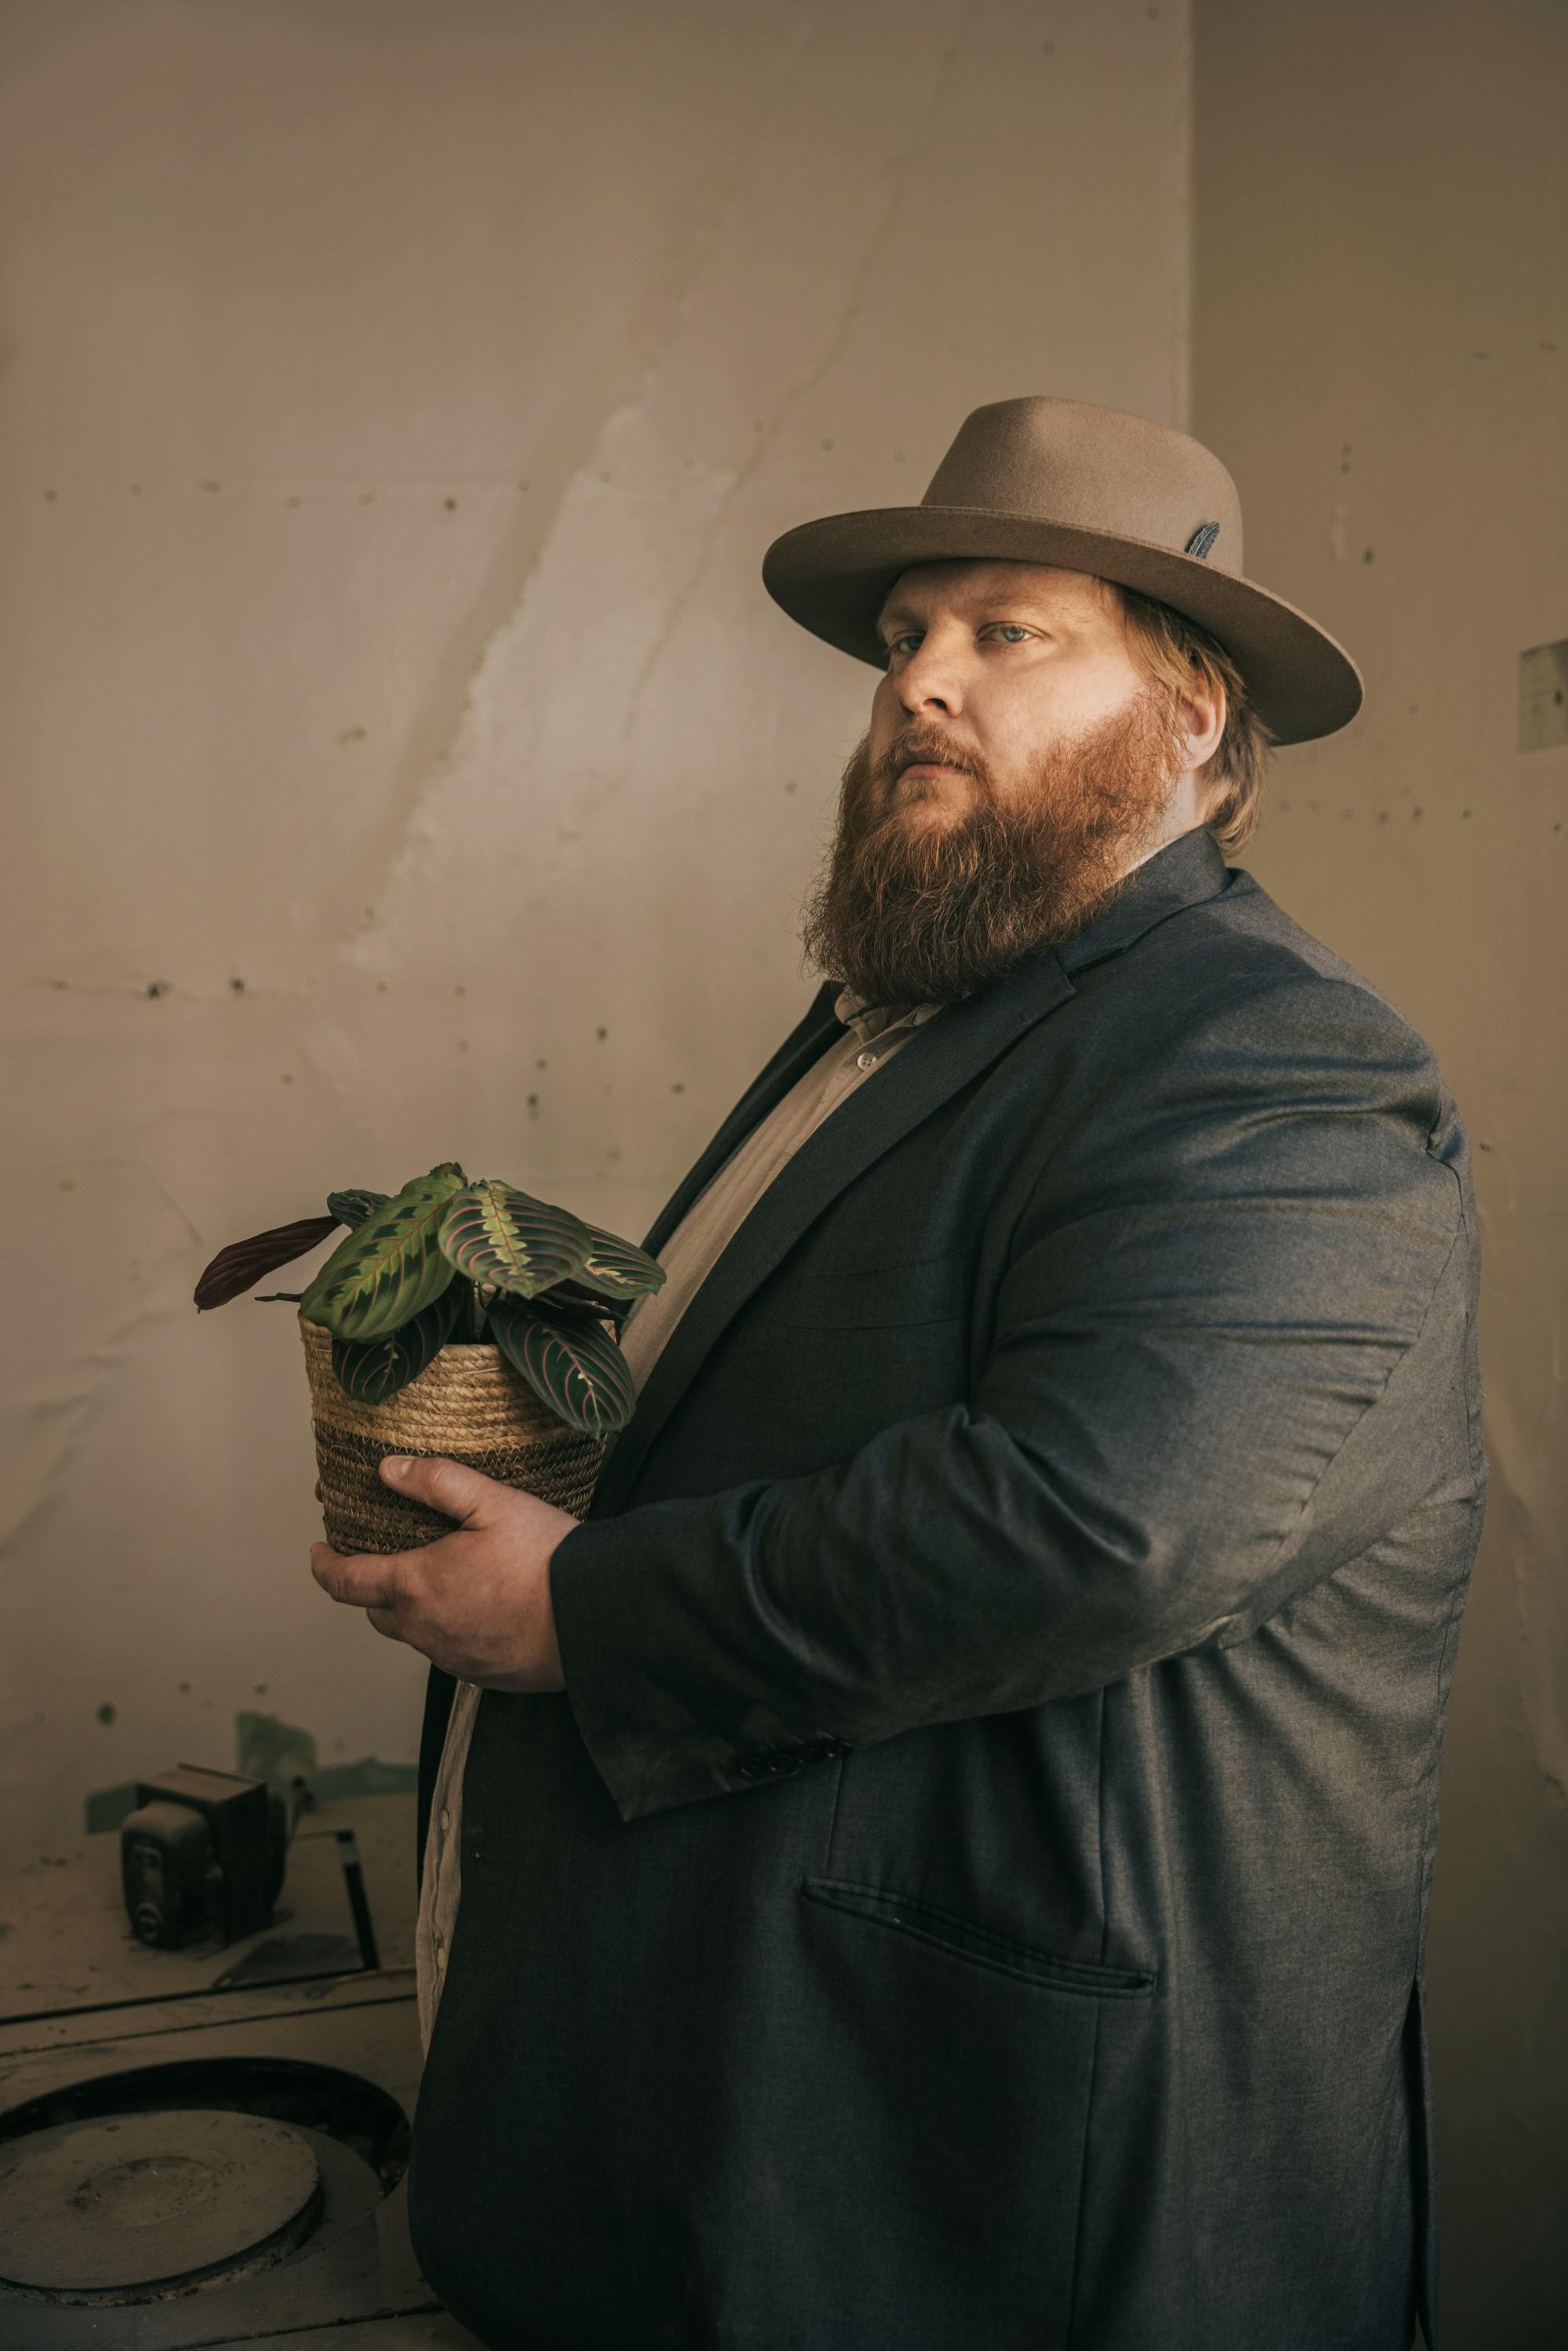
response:
<path id="1" fill-rule="evenodd" d="M 910 759 L 966 769 L 969 804 L 912 816 Z M 1152 694 L 1039 755 L 999 797 L 980 762 L 912 722 L 872 769 L 863 736 L 844 769 L 839 830 L 802 915 L 806 957 L 872 1004 L 952 1004 L 1030 955 L 1060 947 L 1121 896 L 1159 839 L 1180 750 Z M 926 778 L 926 790 L 936 781 Z"/>

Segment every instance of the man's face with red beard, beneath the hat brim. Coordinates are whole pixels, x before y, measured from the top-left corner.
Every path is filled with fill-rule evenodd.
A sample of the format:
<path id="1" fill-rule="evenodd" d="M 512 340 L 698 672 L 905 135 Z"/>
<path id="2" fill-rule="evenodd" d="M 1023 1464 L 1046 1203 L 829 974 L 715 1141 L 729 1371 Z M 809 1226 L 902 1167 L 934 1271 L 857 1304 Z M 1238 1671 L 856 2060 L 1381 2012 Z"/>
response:
<path id="1" fill-rule="evenodd" d="M 802 940 L 875 1004 L 947 1004 L 1063 945 L 1201 820 L 1190 738 L 1081 571 L 912 564 L 879 635 Z"/>

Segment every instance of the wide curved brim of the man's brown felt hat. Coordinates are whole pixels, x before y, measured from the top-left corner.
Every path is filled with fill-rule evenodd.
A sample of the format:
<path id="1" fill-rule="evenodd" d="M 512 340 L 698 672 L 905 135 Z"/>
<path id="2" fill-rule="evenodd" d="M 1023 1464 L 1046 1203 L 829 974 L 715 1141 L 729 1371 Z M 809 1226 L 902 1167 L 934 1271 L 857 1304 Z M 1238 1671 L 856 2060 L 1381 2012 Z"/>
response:
<path id="1" fill-rule="evenodd" d="M 877 614 L 910 564 L 1004 557 L 1093 571 L 1187 614 L 1220 639 L 1276 743 L 1309 743 L 1349 724 L 1361 672 L 1295 604 L 1197 555 L 985 505 L 872 505 L 785 531 L 762 557 L 762 583 L 813 637 L 886 668 Z"/>

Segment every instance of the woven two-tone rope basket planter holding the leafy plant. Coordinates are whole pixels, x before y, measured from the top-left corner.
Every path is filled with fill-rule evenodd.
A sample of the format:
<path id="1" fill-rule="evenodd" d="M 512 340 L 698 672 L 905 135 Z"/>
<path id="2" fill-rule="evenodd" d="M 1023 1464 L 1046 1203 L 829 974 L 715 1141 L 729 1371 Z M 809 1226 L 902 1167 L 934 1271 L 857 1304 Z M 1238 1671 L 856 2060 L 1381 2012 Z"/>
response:
<path id="1" fill-rule="evenodd" d="M 388 1453 L 440 1453 L 520 1486 L 576 1519 L 588 1514 L 607 1436 L 583 1436 L 548 1411 L 498 1347 L 442 1347 L 386 1404 L 355 1404 L 331 1371 L 331 1331 L 299 1317 L 310 1373 L 322 1521 L 334 1552 L 416 1552 L 454 1519 L 378 1474 Z"/>

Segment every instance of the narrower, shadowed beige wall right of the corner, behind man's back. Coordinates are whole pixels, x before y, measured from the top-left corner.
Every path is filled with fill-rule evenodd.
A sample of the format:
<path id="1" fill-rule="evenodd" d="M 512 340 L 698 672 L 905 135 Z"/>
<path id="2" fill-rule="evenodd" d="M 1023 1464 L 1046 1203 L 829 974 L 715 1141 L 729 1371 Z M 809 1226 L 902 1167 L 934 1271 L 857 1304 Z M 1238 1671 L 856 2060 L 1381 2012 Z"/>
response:
<path id="1" fill-rule="evenodd" d="M 1244 863 L 1427 1032 L 1467 1117 L 1493 1462 L 1432 1916 L 1443 2351 L 1563 2339 L 1568 2215 L 1568 9 L 1199 0 L 1194 430 L 1248 569 L 1366 668 Z"/>

